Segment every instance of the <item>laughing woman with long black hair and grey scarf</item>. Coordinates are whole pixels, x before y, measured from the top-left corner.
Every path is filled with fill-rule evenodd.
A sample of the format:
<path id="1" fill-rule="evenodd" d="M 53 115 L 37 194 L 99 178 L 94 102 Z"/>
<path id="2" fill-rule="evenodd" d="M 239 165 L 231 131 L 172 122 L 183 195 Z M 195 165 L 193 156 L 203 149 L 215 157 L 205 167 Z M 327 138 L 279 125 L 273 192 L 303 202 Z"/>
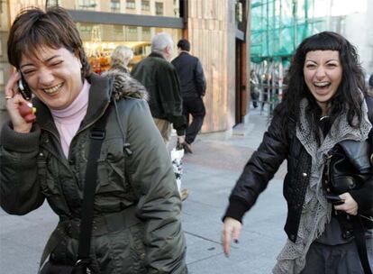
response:
<path id="1" fill-rule="evenodd" d="M 288 240 L 273 273 L 371 273 L 372 111 L 355 47 L 335 32 L 305 39 L 289 68 L 287 96 L 232 189 L 223 251 L 228 255 L 231 240 L 238 242 L 242 216 L 287 160 Z M 340 154 L 352 160 L 342 167 L 327 164 L 341 147 Z"/>

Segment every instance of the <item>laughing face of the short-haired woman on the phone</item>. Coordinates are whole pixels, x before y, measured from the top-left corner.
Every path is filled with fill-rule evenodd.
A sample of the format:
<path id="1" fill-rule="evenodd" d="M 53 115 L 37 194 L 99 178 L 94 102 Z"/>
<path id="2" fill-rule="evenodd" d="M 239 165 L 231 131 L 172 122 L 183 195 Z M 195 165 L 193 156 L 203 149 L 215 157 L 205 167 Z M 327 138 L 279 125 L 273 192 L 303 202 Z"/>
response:
<path id="1" fill-rule="evenodd" d="M 81 67 L 74 53 L 48 47 L 37 50 L 37 56 L 23 54 L 20 65 L 32 93 L 50 109 L 64 109 L 77 98 L 83 87 Z"/>

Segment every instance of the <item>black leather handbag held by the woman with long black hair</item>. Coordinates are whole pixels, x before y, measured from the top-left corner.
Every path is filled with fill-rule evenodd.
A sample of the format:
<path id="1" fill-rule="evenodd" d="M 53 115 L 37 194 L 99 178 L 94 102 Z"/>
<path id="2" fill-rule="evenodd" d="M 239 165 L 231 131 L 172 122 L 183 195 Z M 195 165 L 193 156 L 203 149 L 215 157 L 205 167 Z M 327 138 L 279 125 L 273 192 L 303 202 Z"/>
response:
<path id="1" fill-rule="evenodd" d="M 346 140 L 336 144 L 324 156 L 323 190 L 329 202 L 334 205 L 342 204 L 343 201 L 340 200 L 339 195 L 349 192 L 349 190 L 363 187 L 365 182 L 371 178 L 372 168 L 369 154 L 370 146 L 368 141 Z M 350 229 L 355 236 L 359 259 L 364 273 L 372 274 L 368 262 L 365 239 L 365 227 L 371 228 L 373 224 L 372 208 L 359 215 L 340 213 L 336 217 L 341 227 L 347 230 Z M 343 238 L 345 237 L 343 236 Z"/>

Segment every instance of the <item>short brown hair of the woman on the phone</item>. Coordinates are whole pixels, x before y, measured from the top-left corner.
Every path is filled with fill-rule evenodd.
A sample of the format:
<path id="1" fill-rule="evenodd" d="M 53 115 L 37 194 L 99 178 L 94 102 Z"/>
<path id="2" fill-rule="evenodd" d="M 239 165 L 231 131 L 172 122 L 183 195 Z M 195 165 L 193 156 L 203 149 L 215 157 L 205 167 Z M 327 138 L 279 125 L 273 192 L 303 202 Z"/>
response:
<path id="1" fill-rule="evenodd" d="M 58 50 L 66 48 L 77 55 L 82 63 L 82 77 L 90 73 L 77 26 L 68 12 L 53 6 L 46 12 L 40 8 L 23 9 L 14 20 L 8 38 L 8 59 L 19 68 L 22 54 L 37 56 L 40 46 Z"/>

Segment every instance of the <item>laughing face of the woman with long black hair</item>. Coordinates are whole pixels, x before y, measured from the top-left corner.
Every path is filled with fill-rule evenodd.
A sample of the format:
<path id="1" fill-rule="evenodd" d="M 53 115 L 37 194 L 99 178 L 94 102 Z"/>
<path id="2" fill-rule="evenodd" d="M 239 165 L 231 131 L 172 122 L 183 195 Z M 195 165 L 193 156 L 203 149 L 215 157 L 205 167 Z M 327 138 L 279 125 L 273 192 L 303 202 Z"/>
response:
<path id="1" fill-rule="evenodd" d="M 341 84 L 342 67 L 337 50 L 315 50 L 305 55 L 305 84 L 327 114 L 328 102 Z"/>

